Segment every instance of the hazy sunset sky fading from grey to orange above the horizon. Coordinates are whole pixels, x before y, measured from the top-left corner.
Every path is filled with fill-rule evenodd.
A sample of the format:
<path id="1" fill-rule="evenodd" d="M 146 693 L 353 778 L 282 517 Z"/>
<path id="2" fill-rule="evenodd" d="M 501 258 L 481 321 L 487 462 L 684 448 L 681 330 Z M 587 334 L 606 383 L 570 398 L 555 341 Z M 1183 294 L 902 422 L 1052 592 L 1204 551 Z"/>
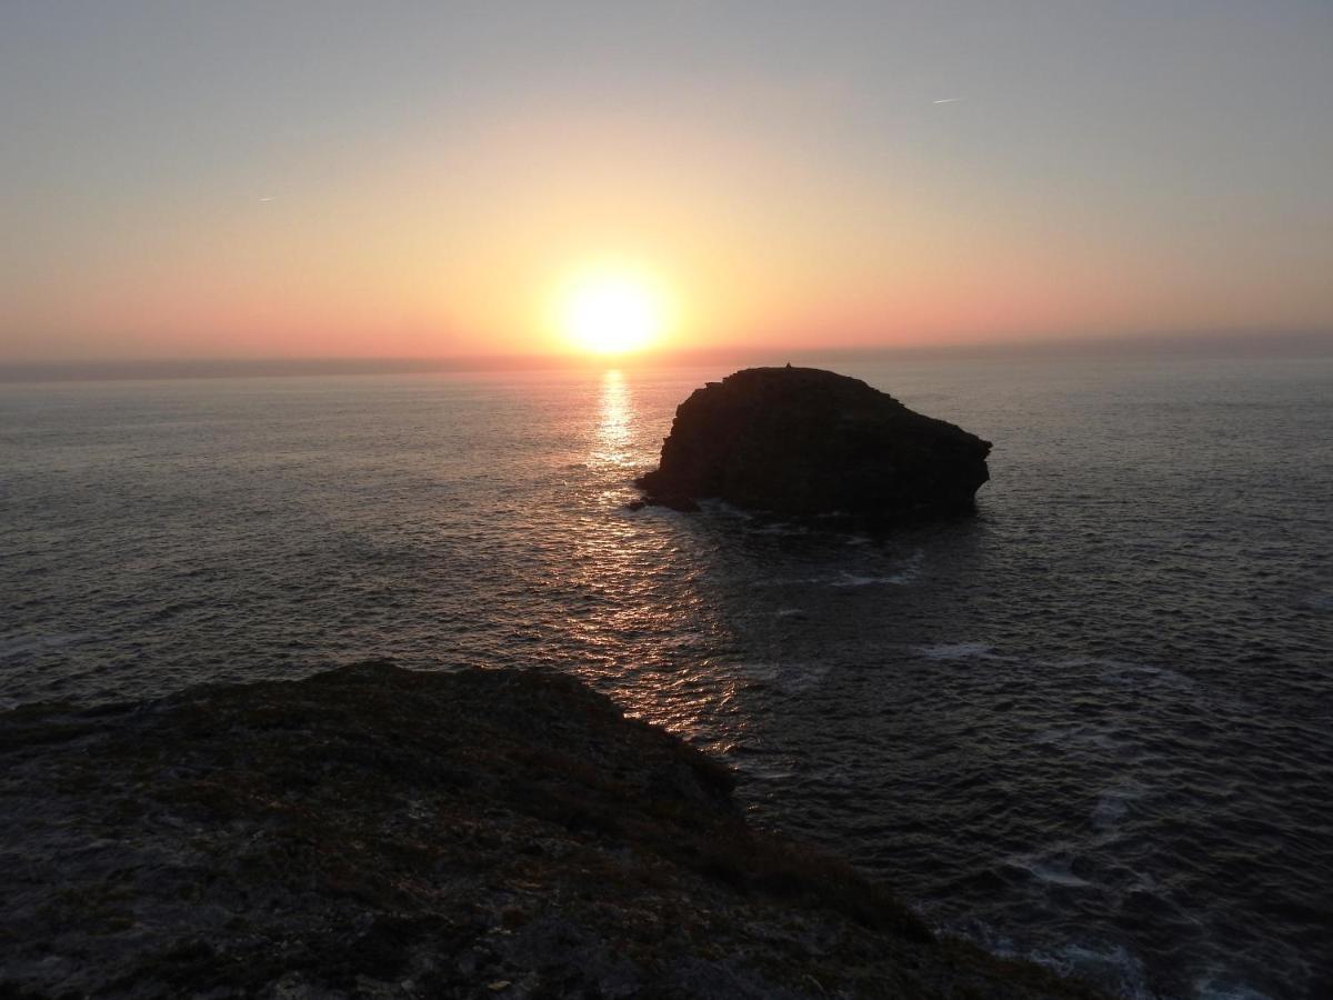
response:
<path id="1" fill-rule="evenodd" d="M 7 3 L 0 133 L 0 361 L 1333 328 L 1318 0 Z"/>

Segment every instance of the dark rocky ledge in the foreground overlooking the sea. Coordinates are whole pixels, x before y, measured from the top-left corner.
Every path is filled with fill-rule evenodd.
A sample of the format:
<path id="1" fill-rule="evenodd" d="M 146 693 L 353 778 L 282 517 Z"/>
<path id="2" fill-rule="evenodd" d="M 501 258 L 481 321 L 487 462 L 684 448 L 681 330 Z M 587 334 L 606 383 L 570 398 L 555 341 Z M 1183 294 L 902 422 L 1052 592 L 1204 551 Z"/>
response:
<path id="1" fill-rule="evenodd" d="M 1076 997 L 549 673 L 0 716 L 0 997 Z"/>

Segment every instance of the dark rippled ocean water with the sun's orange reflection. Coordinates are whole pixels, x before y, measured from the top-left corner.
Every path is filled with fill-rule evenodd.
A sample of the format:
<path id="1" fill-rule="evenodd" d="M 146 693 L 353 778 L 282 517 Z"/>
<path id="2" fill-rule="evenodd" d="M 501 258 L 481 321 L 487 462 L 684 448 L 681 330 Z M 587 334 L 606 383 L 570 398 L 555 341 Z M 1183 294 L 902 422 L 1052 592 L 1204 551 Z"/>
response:
<path id="1" fill-rule="evenodd" d="M 571 671 L 941 928 L 1333 995 L 1333 361 L 837 367 L 994 441 L 976 517 L 625 509 L 724 369 L 3 385 L 0 704 Z"/>

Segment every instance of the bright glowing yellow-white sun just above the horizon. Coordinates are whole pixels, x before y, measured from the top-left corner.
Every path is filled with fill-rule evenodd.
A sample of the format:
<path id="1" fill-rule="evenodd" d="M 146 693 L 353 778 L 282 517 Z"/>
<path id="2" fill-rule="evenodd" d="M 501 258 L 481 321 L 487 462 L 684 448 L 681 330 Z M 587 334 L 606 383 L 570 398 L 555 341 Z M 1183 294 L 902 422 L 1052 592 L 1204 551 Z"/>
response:
<path id="1" fill-rule="evenodd" d="M 625 355 L 656 341 L 668 325 L 666 300 L 649 276 L 601 267 L 569 280 L 560 296 L 560 329 L 579 349 Z"/>

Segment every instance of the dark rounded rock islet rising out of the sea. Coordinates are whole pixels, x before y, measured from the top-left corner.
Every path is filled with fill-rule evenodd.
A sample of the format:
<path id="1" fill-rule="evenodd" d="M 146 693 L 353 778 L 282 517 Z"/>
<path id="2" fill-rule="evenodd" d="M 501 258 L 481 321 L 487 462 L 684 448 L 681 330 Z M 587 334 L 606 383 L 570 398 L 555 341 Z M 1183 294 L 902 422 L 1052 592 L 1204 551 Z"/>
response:
<path id="1" fill-rule="evenodd" d="M 720 497 L 781 513 L 969 511 L 990 443 L 818 368 L 746 368 L 676 409 L 649 501 Z"/>

